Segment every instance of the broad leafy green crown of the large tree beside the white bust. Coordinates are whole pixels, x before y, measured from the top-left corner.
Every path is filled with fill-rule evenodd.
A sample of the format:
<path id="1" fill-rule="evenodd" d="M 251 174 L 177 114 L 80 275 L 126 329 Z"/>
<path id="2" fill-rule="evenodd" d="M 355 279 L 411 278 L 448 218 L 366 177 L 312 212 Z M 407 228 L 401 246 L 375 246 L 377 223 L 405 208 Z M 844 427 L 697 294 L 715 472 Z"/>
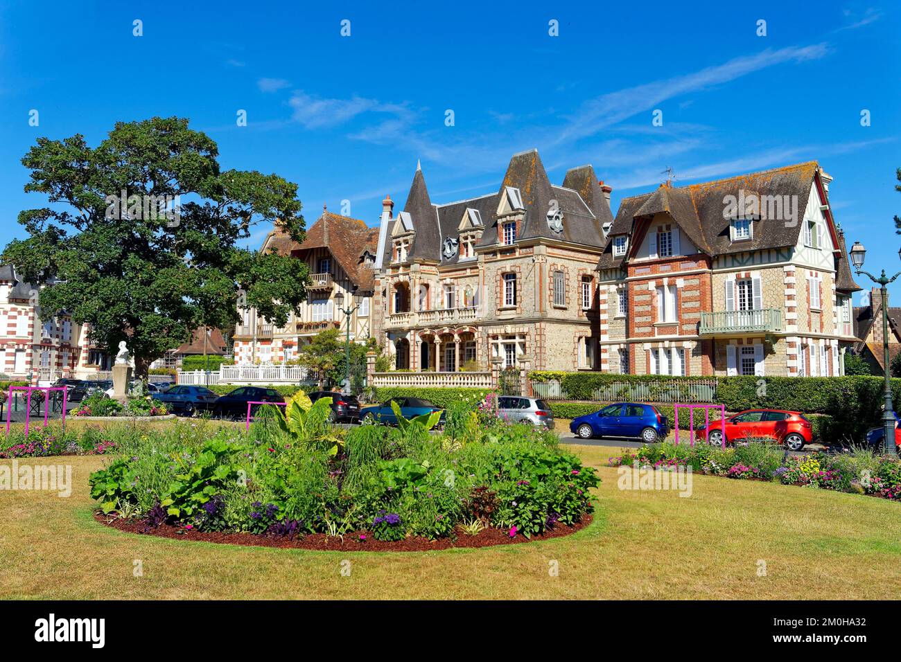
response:
<path id="1" fill-rule="evenodd" d="M 89 323 L 101 349 L 125 340 L 138 376 L 198 326 L 238 322 L 239 304 L 287 322 L 305 298 L 304 262 L 238 243 L 261 222 L 303 240 L 297 186 L 223 171 L 217 156 L 212 139 L 177 117 L 117 122 L 96 148 L 80 134 L 38 139 L 22 159 L 31 170 L 25 191 L 52 206 L 19 214 L 30 236 L 10 242 L 3 260 L 50 285 L 41 287 L 41 317 L 66 311 Z"/>

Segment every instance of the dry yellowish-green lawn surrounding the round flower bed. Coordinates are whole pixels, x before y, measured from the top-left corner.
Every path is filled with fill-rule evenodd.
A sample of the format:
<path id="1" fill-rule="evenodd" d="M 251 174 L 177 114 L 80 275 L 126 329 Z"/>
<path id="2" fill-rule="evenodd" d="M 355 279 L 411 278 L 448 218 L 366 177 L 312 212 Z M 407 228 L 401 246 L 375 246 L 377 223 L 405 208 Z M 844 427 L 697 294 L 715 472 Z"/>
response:
<path id="1" fill-rule="evenodd" d="M 257 549 L 124 534 L 73 494 L 0 491 L 2 598 L 896 598 L 901 504 L 695 476 L 690 498 L 620 491 L 616 449 L 569 447 L 600 468 L 595 522 L 568 538 L 425 553 Z M 8 463 L 8 460 L 3 460 Z M 143 576 L 132 574 L 140 560 Z M 350 561 L 350 576 L 342 576 Z M 556 561 L 559 576 L 550 576 Z M 759 562 L 766 576 L 759 576 Z M 343 567 L 347 564 L 344 563 Z"/>

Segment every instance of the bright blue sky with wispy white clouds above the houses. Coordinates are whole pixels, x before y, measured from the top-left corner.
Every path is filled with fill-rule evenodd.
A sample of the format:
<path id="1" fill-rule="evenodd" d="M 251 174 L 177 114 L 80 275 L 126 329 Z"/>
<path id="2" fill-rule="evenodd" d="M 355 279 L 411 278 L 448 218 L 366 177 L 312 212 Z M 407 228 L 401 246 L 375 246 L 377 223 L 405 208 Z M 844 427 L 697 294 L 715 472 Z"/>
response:
<path id="1" fill-rule="evenodd" d="M 894 273 L 899 28 L 901 9 L 871 2 L 7 3 L 0 241 L 44 204 L 22 190 L 38 136 L 96 144 L 116 121 L 179 115 L 218 142 L 223 168 L 296 182 L 308 224 L 349 200 L 375 225 L 417 159 L 432 201 L 450 202 L 495 191 L 510 156 L 537 147 L 558 184 L 592 163 L 614 210 L 668 167 L 688 184 L 817 159 L 849 246 Z"/>

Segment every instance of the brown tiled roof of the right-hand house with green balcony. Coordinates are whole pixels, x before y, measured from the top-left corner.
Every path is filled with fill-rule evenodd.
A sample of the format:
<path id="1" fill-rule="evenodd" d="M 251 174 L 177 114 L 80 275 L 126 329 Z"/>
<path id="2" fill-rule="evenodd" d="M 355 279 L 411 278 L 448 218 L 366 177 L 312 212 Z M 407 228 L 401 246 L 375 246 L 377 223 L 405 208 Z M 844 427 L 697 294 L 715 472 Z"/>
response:
<path id="1" fill-rule="evenodd" d="M 616 213 L 610 238 L 631 234 L 633 222 L 637 219 L 666 212 L 685 231 L 697 249 L 707 255 L 727 255 L 749 250 L 795 246 L 802 229 L 800 220 L 805 212 L 811 185 L 818 170 L 819 165 L 816 161 L 806 161 L 783 168 L 772 168 L 690 186 L 676 187 L 669 183 L 662 184 L 651 193 L 623 199 Z M 731 241 L 729 230 L 732 219 L 724 216 L 724 200 L 727 195 L 739 197 L 741 191 L 745 196 L 749 194 L 796 196 L 798 222 L 755 220 L 750 240 Z M 630 245 L 630 250 L 632 248 Z M 836 286 L 843 291 L 860 289 L 851 278 L 841 236 L 839 248 L 842 253 L 836 256 L 839 278 Z M 622 258 L 614 259 L 612 252 L 605 250 L 604 255 L 598 260 L 598 268 L 615 267 L 622 261 Z"/>

